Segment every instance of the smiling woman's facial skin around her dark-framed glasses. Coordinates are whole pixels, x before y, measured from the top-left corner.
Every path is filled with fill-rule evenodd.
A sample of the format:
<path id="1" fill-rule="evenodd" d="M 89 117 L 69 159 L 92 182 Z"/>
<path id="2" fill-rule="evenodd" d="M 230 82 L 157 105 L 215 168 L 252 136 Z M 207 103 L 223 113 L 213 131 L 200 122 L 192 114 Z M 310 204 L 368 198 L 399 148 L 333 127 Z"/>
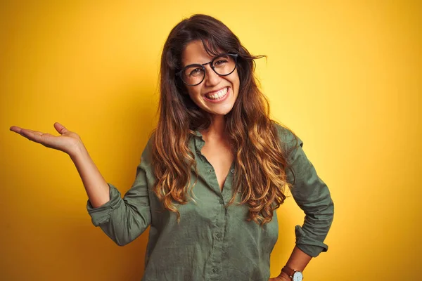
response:
<path id="1" fill-rule="evenodd" d="M 203 64 L 212 60 L 202 41 L 189 43 L 182 53 L 182 67 L 194 63 Z M 219 76 L 210 64 L 205 67 L 205 78 L 196 86 L 186 86 L 188 94 L 198 107 L 212 115 L 226 115 L 233 108 L 239 91 L 239 76 L 236 70 L 227 76 Z"/>

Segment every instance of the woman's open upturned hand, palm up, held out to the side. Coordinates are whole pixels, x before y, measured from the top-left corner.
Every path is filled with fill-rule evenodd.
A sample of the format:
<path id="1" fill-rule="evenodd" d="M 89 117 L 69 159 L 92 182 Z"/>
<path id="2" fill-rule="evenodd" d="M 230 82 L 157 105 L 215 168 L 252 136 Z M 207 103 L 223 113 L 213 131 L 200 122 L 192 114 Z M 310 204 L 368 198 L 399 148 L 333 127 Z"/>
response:
<path id="1" fill-rule="evenodd" d="M 58 122 L 54 123 L 53 126 L 56 131 L 60 133 L 60 136 L 53 136 L 50 133 L 41 133 L 40 131 L 23 129 L 18 126 L 11 126 L 10 130 L 15 133 L 19 133 L 21 136 L 24 136 L 30 141 L 41 143 L 41 145 L 44 145 L 47 148 L 60 150 L 68 153 L 69 155 L 77 149 L 78 145 L 82 144 L 82 140 L 77 133 L 68 131 L 65 126 Z"/>

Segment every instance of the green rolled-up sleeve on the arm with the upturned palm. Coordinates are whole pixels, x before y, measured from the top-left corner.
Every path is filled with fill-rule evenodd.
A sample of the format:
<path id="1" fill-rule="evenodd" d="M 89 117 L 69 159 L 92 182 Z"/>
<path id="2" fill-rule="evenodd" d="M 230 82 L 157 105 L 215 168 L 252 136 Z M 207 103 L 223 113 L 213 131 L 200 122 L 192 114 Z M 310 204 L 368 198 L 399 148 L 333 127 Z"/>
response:
<path id="1" fill-rule="evenodd" d="M 149 142 L 148 142 L 149 143 Z M 151 211 L 148 196 L 146 169 L 149 168 L 147 155 L 149 147 L 143 150 L 141 162 L 136 168 L 136 178 L 132 188 L 122 198 L 119 190 L 108 183 L 110 201 L 98 208 L 87 202 L 88 214 L 94 226 L 99 226 L 116 244 L 124 246 L 132 242 L 148 228 Z"/>

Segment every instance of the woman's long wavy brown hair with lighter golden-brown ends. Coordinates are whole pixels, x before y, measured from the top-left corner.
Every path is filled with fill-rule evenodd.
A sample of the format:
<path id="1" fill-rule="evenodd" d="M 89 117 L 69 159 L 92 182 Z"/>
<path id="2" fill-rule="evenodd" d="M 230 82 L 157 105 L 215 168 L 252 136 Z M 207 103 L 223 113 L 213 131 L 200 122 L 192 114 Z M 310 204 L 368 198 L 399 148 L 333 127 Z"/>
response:
<path id="1" fill-rule="evenodd" d="M 196 183 L 191 185 L 192 168 L 198 176 L 195 155 L 188 143 L 196 130 L 210 126 L 211 118 L 193 103 L 184 84 L 175 77 L 181 70 L 184 48 L 194 40 L 201 40 L 205 51 L 212 56 L 222 51 L 238 54 L 238 98 L 231 112 L 224 116 L 235 157 L 233 197 L 229 204 L 241 192 L 239 204 L 249 206 L 247 220 L 263 226 L 271 221 L 273 211 L 283 204 L 286 186 L 290 187 L 286 176 L 289 168 L 286 152 L 274 126 L 277 122 L 270 119 L 268 100 L 254 76 L 254 60 L 263 56 L 251 55 L 226 25 L 209 15 L 193 15 L 179 22 L 162 50 L 159 119 L 153 133 L 155 195 L 166 209 L 177 213 L 179 222 L 176 205 L 186 204 L 192 198 L 189 193 Z"/>

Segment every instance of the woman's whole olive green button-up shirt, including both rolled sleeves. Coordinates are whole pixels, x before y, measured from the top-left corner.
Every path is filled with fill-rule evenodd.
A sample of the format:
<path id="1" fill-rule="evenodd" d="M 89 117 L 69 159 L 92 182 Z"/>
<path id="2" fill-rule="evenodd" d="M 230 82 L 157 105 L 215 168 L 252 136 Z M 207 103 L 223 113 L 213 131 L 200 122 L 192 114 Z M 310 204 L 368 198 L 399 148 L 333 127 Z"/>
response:
<path id="1" fill-rule="evenodd" d="M 318 256 L 328 249 L 323 242 L 333 220 L 333 201 L 303 152 L 302 141 L 295 147 L 293 134 L 276 126 L 281 143 L 291 151 L 288 159 L 295 171 L 292 195 L 306 214 L 303 225 L 295 228 L 296 245 L 310 256 Z M 92 223 L 120 246 L 132 242 L 150 226 L 143 281 L 267 281 L 270 254 L 279 236 L 276 212 L 272 221 L 261 228 L 254 221 L 245 221 L 248 217 L 245 204 L 225 207 L 231 199 L 234 163 L 221 191 L 214 169 L 200 154 L 205 141 L 198 131 L 189 145 L 198 166 L 198 182 L 193 188 L 198 204 L 191 201 L 178 206 L 179 225 L 176 214 L 163 209 L 152 190 L 155 178 L 151 139 L 143 150 L 134 184 L 123 198 L 108 183 L 109 202 L 94 209 L 88 200 Z M 191 172 L 193 183 L 195 176 Z M 288 181 L 293 181 L 290 172 Z M 239 192 L 235 202 L 240 200 Z M 281 269 L 283 264 L 274 266 Z"/>

